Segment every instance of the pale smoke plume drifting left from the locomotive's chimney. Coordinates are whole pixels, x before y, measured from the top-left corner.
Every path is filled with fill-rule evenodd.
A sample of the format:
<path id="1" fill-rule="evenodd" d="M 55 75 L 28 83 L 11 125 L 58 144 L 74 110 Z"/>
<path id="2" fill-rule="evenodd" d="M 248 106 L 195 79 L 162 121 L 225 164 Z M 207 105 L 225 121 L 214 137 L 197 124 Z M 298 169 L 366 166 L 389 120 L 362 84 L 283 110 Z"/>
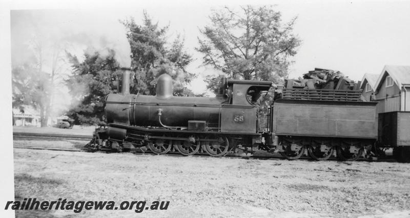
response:
<path id="1" fill-rule="evenodd" d="M 72 72 L 66 51 L 81 62 L 85 52 L 97 51 L 104 56 L 112 49 L 120 66 L 130 67 L 131 48 L 126 28 L 119 21 L 125 18 L 101 10 L 12 10 L 12 65 L 38 62 L 41 48 L 42 70 L 51 74 L 56 66 L 52 113 L 58 115 L 76 102 L 64 85 L 64 79 Z M 54 59 L 56 54 L 58 58 Z M 87 91 L 84 87 L 78 87 L 79 90 Z"/>

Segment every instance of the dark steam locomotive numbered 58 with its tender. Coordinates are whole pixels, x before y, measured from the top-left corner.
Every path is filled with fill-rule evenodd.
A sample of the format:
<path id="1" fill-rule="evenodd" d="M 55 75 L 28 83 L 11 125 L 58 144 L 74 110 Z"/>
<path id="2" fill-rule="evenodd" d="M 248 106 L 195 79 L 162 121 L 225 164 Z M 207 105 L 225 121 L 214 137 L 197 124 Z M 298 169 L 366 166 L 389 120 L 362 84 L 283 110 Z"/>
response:
<path id="1" fill-rule="evenodd" d="M 274 103 L 261 115 L 260 98 L 275 86 L 268 81 L 221 78 L 215 97 L 179 97 L 167 74 L 157 78 L 154 96 L 129 93 L 129 69 L 122 78 L 121 92 L 106 97 L 107 126 L 86 147 L 211 156 L 264 150 L 290 160 L 305 154 L 345 161 L 393 147 L 398 160 L 410 161 L 410 146 L 381 143 L 377 102 L 361 102 L 360 91 L 276 87 Z"/>

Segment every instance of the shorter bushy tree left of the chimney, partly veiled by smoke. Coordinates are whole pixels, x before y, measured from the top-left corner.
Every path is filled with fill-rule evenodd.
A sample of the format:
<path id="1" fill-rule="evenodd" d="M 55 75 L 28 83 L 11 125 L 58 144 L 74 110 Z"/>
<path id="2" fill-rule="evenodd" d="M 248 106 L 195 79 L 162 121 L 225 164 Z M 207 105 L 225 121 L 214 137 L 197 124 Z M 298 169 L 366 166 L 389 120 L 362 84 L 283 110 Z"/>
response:
<path id="1" fill-rule="evenodd" d="M 115 52 L 108 49 L 104 53 L 107 55 L 88 49 L 81 63 L 75 55 L 67 53 L 73 74 L 66 82 L 74 97 L 67 115 L 76 125 L 104 124 L 105 96 L 114 89 L 112 81 L 121 78 L 119 64 L 114 59 Z"/>

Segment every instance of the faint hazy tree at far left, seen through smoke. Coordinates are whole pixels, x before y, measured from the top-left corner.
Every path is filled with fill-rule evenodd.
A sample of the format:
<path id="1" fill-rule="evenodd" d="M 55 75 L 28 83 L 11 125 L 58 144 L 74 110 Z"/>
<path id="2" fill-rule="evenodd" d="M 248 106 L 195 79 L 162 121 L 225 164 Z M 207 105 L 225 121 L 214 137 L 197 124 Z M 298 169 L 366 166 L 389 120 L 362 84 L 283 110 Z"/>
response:
<path id="1" fill-rule="evenodd" d="M 53 41 L 36 23 L 30 27 L 33 36 L 12 42 L 13 107 L 24 110 L 32 106 L 39 111 L 41 127 L 45 127 L 54 112 L 54 87 L 65 64 L 61 56 L 65 42 Z"/>

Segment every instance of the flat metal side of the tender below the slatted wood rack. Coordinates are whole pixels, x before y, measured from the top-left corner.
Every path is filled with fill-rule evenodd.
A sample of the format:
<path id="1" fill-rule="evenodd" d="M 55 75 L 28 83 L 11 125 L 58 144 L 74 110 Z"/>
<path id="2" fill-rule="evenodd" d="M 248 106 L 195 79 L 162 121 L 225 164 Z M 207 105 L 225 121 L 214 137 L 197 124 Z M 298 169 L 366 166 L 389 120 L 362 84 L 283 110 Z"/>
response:
<path id="1" fill-rule="evenodd" d="M 277 135 L 377 138 L 376 103 L 278 100 L 273 105 Z"/>

